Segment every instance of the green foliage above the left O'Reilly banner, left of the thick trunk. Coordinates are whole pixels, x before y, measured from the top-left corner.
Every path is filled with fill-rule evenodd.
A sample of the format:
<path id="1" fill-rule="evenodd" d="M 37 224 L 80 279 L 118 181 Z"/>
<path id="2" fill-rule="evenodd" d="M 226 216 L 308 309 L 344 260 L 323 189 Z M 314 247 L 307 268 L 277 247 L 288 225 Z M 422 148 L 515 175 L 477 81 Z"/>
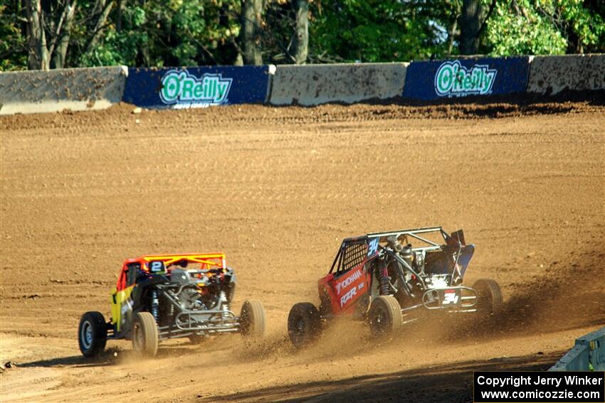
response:
<path id="1" fill-rule="evenodd" d="M 123 0 L 124 1 L 124 0 Z M 239 33 L 238 1 L 149 0 L 128 3 L 80 65 L 230 65 Z M 117 21 L 113 11 L 111 21 Z M 85 35 L 82 36 L 85 42 Z"/>

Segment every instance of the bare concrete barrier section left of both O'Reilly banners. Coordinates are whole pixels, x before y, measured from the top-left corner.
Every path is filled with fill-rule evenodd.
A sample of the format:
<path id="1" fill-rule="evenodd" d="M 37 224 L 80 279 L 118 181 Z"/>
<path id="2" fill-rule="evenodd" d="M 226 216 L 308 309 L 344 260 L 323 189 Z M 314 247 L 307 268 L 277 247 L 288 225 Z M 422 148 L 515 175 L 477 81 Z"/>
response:
<path id="1" fill-rule="evenodd" d="M 105 109 L 122 101 L 127 68 L 0 73 L 0 114 Z"/>

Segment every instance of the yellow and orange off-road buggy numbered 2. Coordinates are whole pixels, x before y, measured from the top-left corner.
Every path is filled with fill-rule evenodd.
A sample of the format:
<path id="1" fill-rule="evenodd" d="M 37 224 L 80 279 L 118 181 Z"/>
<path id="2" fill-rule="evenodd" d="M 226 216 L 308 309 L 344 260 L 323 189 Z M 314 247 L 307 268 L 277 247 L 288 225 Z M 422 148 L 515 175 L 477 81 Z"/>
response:
<path id="1" fill-rule="evenodd" d="M 111 319 L 87 312 L 78 341 L 86 357 L 99 355 L 107 339 L 130 339 L 133 348 L 154 356 L 160 340 L 242 333 L 261 337 L 261 302 L 243 303 L 236 316 L 230 303 L 236 276 L 225 254 L 162 254 L 127 259 L 111 293 Z"/>

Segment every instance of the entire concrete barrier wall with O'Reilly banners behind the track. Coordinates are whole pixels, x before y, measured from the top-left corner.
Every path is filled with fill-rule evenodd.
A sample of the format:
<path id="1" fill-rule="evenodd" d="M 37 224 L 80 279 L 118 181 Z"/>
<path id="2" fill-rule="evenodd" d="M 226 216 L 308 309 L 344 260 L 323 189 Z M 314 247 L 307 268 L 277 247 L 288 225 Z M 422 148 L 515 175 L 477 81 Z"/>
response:
<path id="1" fill-rule="evenodd" d="M 460 58 L 414 63 L 76 68 L 0 72 L 0 114 L 105 109 L 117 102 L 186 108 L 212 104 L 352 104 L 403 97 L 439 102 L 466 95 L 599 91 L 605 54 Z M 591 95 L 593 96 L 593 95 Z"/>

